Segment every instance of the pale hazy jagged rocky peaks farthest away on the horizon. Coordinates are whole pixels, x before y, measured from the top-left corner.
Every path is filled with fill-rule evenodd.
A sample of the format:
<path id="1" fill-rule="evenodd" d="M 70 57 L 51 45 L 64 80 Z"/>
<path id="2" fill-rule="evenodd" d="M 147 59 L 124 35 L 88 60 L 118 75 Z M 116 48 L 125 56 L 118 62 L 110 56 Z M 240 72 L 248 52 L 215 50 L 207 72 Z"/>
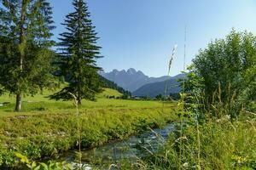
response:
<path id="1" fill-rule="evenodd" d="M 127 71 L 113 70 L 111 72 L 101 71 L 100 75 L 108 80 L 117 83 L 120 87 L 125 88 L 131 92 L 137 90 L 137 88 L 143 87 L 143 85 L 152 82 L 162 82 L 170 77 L 148 77 L 143 74 L 142 71 L 136 71 L 135 69 L 128 69 Z"/>

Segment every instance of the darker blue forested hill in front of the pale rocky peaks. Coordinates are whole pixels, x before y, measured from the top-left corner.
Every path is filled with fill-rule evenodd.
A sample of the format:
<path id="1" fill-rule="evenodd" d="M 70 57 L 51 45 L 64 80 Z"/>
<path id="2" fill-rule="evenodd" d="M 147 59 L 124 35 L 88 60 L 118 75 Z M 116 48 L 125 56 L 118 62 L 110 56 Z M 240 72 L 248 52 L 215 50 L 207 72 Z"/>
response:
<path id="1" fill-rule="evenodd" d="M 148 83 L 143 87 L 138 88 L 136 91 L 132 93 L 132 95 L 144 96 L 144 97 L 147 96 L 150 98 L 154 98 L 158 94 L 165 94 L 165 89 L 166 89 L 166 94 L 179 93 L 181 88 L 179 87 L 179 82 L 177 82 L 177 79 L 182 78 L 183 76 L 184 76 L 183 74 L 180 74 L 180 75 L 177 75 L 176 77 L 171 77 L 167 81 Z M 167 84 L 167 88 L 166 88 L 166 84 Z"/>

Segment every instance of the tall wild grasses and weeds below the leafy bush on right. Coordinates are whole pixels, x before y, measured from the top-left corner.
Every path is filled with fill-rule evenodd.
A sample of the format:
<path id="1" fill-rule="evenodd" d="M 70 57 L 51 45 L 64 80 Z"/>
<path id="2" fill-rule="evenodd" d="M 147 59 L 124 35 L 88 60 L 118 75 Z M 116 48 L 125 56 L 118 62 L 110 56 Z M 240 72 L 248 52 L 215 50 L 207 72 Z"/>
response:
<path id="1" fill-rule="evenodd" d="M 171 133 L 161 151 L 137 164 L 138 169 L 255 169 L 255 116 L 209 120 L 199 126 L 183 126 L 183 136 Z M 177 129 L 180 127 L 177 126 Z M 181 156 L 180 156 L 181 153 Z"/>

